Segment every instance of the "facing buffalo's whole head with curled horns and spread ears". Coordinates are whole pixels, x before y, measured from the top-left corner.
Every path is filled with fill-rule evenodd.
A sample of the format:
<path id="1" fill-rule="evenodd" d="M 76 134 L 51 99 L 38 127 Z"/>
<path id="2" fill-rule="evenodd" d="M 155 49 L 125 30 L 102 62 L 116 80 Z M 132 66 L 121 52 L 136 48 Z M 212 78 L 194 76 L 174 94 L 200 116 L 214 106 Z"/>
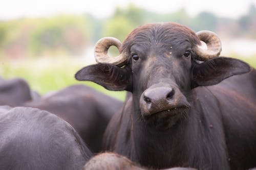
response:
<path id="1" fill-rule="evenodd" d="M 119 48 L 119 56 L 108 56 L 111 45 Z M 191 89 L 249 71 L 246 63 L 218 57 L 220 53 L 215 33 L 194 33 L 173 22 L 153 23 L 133 30 L 123 43 L 100 39 L 95 45 L 98 64 L 82 68 L 75 77 L 109 90 L 131 91 L 134 112 L 147 125 L 164 130 L 189 113 Z"/>

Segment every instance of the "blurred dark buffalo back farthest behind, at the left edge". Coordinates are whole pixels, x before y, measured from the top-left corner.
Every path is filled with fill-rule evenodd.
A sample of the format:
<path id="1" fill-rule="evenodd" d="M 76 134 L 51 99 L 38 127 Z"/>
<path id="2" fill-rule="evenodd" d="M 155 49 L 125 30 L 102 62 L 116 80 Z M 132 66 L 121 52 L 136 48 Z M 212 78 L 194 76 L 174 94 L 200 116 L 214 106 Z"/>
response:
<path id="1" fill-rule="evenodd" d="M 0 77 L 0 105 L 20 106 L 37 96 L 39 94 L 31 91 L 25 80 L 20 78 L 7 80 Z"/>

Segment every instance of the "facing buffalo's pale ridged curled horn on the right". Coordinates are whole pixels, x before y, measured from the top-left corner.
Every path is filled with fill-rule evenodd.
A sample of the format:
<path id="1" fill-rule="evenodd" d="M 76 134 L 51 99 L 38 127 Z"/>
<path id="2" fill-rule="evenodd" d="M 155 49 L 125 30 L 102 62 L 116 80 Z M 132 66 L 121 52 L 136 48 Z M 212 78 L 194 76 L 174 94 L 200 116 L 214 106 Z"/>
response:
<path id="1" fill-rule="evenodd" d="M 197 36 L 207 45 L 207 49 L 203 48 L 202 45 L 195 47 L 198 60 L 206 61 L 210 58 L 219 57 L 221 53 L 221 40 L 217 34 L 211 31 L 199 31 L 197 32 Z"/>

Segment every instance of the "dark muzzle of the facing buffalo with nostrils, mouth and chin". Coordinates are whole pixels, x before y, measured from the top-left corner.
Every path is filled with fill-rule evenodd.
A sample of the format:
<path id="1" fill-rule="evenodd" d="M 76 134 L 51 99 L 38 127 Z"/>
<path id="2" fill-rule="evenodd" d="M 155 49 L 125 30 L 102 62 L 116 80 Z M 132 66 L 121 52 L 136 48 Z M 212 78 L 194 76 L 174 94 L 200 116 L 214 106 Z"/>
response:
<path id="1" fill-rule="evenodd" d="M 140 96 L 141 116 L 159 129 L 168 129 L 189 109 L 186 97 L 176 86 L 157 84 Z"/>

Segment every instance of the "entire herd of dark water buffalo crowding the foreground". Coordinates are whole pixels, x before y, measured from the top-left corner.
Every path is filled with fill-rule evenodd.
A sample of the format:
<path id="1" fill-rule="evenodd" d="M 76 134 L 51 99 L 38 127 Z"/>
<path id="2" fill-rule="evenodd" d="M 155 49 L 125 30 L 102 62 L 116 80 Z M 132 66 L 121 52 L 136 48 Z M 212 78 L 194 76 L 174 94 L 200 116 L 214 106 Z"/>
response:
<path id="1" fill-rule="evenodd" d="M 221 49 L 215 33 L 174 22 L 100 39 L 97 64 L 75 78 L 126 90 L 124 102 L 0 77 L 0 169 L 253 169 L 256 70 Z"/>

